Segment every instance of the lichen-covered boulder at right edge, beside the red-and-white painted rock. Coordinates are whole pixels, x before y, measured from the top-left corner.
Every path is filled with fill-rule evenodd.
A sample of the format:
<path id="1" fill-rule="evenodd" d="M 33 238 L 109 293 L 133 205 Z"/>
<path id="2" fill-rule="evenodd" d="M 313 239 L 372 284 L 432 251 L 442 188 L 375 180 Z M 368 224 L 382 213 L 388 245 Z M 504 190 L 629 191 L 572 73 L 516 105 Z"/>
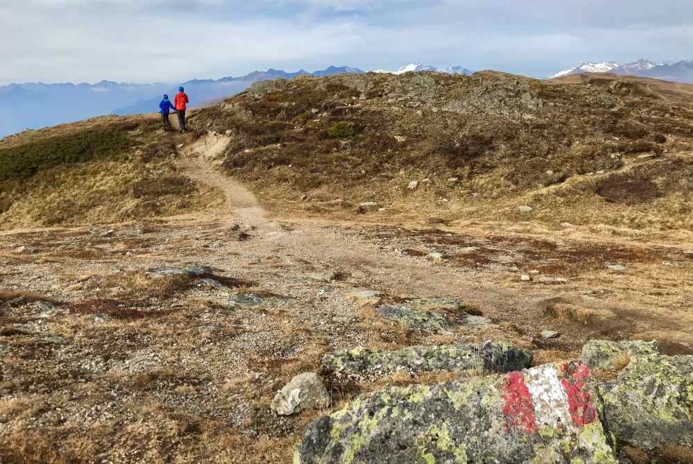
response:
<path id="1" fill-rule="evenodd" d="M 693 447 L 693 356 L 633 356 L 602 389 L 606 419 L 619 442 Z"/>

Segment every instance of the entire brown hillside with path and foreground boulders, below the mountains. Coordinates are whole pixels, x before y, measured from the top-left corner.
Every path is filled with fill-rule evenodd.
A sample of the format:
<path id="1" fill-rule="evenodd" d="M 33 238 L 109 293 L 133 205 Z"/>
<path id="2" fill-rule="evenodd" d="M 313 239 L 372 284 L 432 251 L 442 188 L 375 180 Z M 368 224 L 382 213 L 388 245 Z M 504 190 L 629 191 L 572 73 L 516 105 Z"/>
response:
<path id="1" fill-rule="evenodd" d="M 692 95 L 305 76 L 2 139 L 0 462 L 690 462 Z"/>

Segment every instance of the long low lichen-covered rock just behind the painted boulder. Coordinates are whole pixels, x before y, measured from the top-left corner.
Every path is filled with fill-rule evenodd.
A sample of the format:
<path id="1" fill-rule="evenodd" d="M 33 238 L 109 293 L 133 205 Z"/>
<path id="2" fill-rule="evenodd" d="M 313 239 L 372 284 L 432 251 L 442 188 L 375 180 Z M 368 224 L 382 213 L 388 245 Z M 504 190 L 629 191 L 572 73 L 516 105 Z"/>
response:
<path id="1" fill-rule="evenodd" d="M 511 372 L 528 368 L 531 363 L 531 351 L 505 343 L 413 346 L 395 351 L 357 347 L 323 356 L 322 371 L 335 379 L 363 381 L 395 372 Z"/>

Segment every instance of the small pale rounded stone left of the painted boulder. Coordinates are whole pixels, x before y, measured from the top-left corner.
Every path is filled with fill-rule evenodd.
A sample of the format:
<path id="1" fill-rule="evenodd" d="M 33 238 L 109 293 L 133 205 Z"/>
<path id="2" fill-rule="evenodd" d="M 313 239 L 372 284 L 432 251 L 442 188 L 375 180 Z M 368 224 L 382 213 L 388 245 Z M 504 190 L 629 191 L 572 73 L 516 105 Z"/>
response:
<path id="1" fill-rule="evenodd" d="M 330 393 L 315 372 L 299 374 L 272 399 L 270 409 L 278 415 L 292 415 L 300 411 L 325 409 L 330 406 Z"/>

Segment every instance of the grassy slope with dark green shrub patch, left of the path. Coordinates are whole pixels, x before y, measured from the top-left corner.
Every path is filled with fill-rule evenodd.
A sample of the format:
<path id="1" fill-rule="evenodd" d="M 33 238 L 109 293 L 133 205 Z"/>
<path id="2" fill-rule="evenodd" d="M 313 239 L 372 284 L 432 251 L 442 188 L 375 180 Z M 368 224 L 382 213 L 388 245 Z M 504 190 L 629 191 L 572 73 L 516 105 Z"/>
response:
<path id="1" fill-rule="evenodd" d="M 201 209 L 175 144 L 147 118 L 96 119 L 0 143 L 0 228 L 82 225 Z"/>

